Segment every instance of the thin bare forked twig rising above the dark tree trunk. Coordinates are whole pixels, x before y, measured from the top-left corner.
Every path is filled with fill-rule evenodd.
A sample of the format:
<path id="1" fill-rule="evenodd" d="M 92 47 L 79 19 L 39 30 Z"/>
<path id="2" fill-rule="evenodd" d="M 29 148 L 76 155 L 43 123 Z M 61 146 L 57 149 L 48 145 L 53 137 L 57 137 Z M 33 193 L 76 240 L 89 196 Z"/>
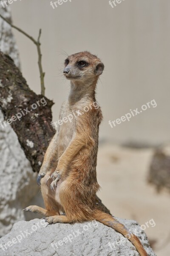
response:
<path id="1" fill-rule="evenodd" d="M 42 54 L 41 54 L 41 48 L 40 48 L 40 36 L 41 36 L 41 29 L 39 31 L 39 36 L 37 41 L 30 35 L 28 35 L 26 32 L 24 32 L 22 29 L 18 28 L 17 26 L 14 26 L 11 22 L 9 22 L 8 20 L 6 20 L 6 18 L 4 18 L 2 15 L 0 15 L 0 17 L 5 20 L 12 28 L 17 29 L 20 33 L 22 33 L 23 35 L 25 35 L 26 37 L 28 37 L 36 46 L 37 46 L 37 52 L 38 52 L 38 67 L 40 70 L 40 81 L 41 81 L 41 94 L 44 96 L 45 95 L 45 85 L 44 85 L 44 76 L 45 73 L 42 70 Z"/>

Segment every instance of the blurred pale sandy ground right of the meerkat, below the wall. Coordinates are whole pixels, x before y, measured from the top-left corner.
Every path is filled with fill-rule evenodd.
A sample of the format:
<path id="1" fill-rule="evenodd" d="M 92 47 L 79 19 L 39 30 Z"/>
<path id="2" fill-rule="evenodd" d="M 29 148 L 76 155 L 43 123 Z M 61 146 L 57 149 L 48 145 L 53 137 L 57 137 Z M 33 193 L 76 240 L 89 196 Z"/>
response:
<path id="1" fill-rule="evenodd" d="M 99 145 L 98 193 L 114 216 L 138 221 L 157 256 L 170 255 L 170 194 L 147 183 L 153 149 Z"/>

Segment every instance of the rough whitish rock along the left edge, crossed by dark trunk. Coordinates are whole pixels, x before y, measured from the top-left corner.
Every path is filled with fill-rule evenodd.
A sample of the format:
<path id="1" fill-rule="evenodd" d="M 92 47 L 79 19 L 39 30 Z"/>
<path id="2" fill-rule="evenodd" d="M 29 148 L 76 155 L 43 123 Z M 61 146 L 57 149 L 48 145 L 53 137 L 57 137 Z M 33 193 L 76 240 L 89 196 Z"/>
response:
<path id="1" fill-rule="evenodd" d="M 0 5 L 0 14 L 10 19 L 8 9 Z M 0 18 L 0 50 L 10 55 L 19 66 L 18 50 L 11 27 Z M 0 123 L 3 114 L 0 111 Z M 17 136 L 8 125 L 0 125 L 0 236 L 6 235 L 12 225 L 25 219 L 22 207 L 37 194 L 38 186 L 31 166 L 20 147 Z M 29 189 L 29 193 L 27 193 Z"/>

